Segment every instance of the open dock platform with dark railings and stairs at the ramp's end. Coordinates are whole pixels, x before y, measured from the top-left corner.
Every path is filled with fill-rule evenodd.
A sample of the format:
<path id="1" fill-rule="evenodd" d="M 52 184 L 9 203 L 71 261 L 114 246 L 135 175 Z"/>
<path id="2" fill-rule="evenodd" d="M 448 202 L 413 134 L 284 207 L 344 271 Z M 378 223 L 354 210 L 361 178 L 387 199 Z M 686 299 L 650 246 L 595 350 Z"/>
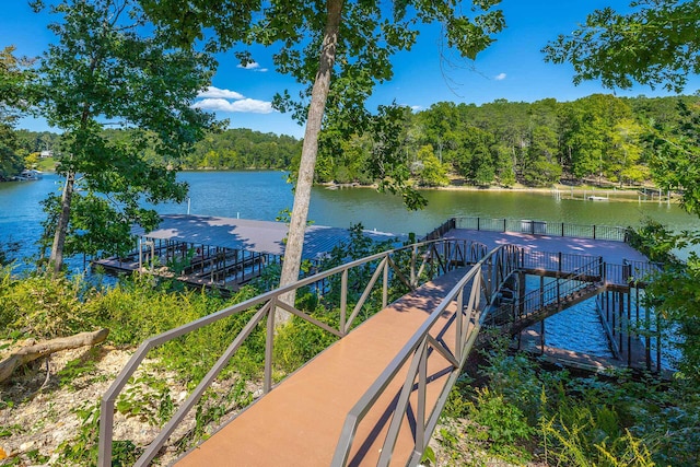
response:
<path id="1" fill-rule="evenodd" d="M 597 260 L 602 285 L 592 291 L 590 300 L 596 300 L 600 332 L 606 335 L 610 357 L 548 347 L 546 319 L 520 332 L 517 347 L 579 369 L 603 371 L 631 367 L 662 372 L 660 326 L 656 316 L 642 306 L 640 299 L 646 287 L 646 278 L 657 266 L 626 242 L 626 227 L 615 226 L 455 218 L 427 237 L 470 240 L 485 244 L 488 249 L 501 245 L 525 248 L 529 259 L 523 262 L 523 272 L 540 277 L 540 291 L 545 290 L 545 278 L 564 283 L 573 271 L 580 270 L 587 261 Z M 525 287 L 521 290 L 524 294 Z"/>

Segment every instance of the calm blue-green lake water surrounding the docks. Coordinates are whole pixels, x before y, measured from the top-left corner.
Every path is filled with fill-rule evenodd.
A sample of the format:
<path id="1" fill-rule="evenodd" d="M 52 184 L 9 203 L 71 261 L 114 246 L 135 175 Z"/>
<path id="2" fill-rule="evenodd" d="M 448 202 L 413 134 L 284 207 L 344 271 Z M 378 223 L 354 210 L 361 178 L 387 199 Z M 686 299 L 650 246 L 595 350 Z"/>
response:
<path id="1" fill-rule="evenodd" d="M 189 203 L 163 205 L 161 213 L 220 215 L 273 221 L 291 209 L 293 195 L 281 172 L 189 172 L 179 178 L 190 186 Z M 60 189 L 59 177 L 47 174 L 38 182 L 0 184 L 0 243 L 19 242 L 21 257 L 35 255 L 44 219 L 40 201 Z M 422 211 L 409 212 L 395 196 L 371 188 L 330 190 L 315 187 L 310 220 L 319 225 L 366 229 L 422 235 L 451 217 L 532 219 L 574 224 L 638 225 L 644 218 L 674 230 L 700 230 L 700 220 L 665 202 L 605 202 L 557 199 L 523 191 L 425 190 Z M 82 266 L 82 260 L 77 266 Z M 547 320 L 550 345 L 607 355 L 592 301 Z M 586 323 L 585 325 L 583 323 Z M 576 336 L 572 340 L 571 336 Z"/>

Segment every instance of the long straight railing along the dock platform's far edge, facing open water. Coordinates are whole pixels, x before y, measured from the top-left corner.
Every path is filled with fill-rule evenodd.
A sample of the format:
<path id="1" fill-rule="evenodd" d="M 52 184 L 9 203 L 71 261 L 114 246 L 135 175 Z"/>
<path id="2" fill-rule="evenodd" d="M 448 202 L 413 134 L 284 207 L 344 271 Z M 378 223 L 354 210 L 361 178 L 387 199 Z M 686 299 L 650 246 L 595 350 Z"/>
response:
<path id="1" fill-rule="evenodd" d="M 533 221 L 529 219 L 455 218 L 455 229 L 489 232 L 518 232 L 576 238 L 627 242 L 627 227 L 609 225 L 580 225 L 567 222 Z"/>

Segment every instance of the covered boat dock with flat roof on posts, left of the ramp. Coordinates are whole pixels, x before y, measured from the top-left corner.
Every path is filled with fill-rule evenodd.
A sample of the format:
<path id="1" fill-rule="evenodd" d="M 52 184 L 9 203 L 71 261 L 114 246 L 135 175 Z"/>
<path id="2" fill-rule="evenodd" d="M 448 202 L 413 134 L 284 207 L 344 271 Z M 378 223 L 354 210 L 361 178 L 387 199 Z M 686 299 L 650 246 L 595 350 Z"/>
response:
<path id="1" fill-rule="evenodd" d="M 189 214 L 161 218 L 151 232 L 132 230 L 138 245 L 129 255 L 97 259 L 93 266 L 110 273 L 143 271 L 231 292 L 281 262 L 284 255 L 288 226 L 282 222 Z M 366 235 L 376 242 L 396 238 L 374 231 Z M 302 259 L 317 262 L 348 240 L 346 229 L 310 225 Z"/>

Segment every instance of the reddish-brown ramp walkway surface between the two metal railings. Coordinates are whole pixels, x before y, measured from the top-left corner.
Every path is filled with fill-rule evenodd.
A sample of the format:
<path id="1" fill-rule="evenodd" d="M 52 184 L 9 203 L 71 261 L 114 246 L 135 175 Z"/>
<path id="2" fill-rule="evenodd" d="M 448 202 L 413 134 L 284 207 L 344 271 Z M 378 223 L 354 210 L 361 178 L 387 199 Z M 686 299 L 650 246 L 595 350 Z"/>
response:
<path id="1" fill-rule="evenodd" d="M 209 440 L 180 458 L 187 466 L 328 466 L 346 416 L 385 370 L 430 313 L 468 269 L 456 270 L 402 296 L 368 319 L 259 398 Z M 431 335 L 454 352 L 455 306 Z M 390 423 L 392 407 L 407 373 L 360 423 L 348 465 L 376 465 Z M 452 365 L 438 352 L 428 358 L 427 412 L 436 404 Z M 416 400 L 411 401 L 416 408 Z M 406 465 L 413 451 L 411 422 L 405 417 L 392 465 Z"/>

